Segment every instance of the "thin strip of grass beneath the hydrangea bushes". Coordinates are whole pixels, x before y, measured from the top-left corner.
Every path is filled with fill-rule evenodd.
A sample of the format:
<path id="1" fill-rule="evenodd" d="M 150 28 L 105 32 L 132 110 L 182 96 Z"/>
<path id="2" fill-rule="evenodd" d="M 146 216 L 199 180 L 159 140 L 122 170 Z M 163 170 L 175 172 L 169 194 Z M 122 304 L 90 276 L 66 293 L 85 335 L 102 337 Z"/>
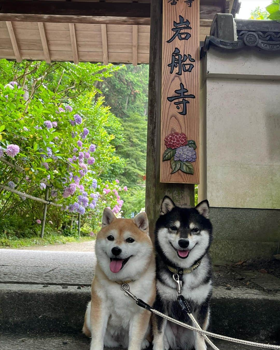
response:
<path id="1" fill-rule="evenodd" d="M 0 248 L 10 247 L 10 248 L 21 248 L 21 247 L 31 247 L 34 245 L 50 245 L 50 244 L 66 244 L 72 242 L 85 242 L 92 240 L 92 237 L 88 236 L 62 236 L 47 233 L 44 238 L 32 237 L 32 238 L 17 238 L 13 237 L 0 237 Z"/>

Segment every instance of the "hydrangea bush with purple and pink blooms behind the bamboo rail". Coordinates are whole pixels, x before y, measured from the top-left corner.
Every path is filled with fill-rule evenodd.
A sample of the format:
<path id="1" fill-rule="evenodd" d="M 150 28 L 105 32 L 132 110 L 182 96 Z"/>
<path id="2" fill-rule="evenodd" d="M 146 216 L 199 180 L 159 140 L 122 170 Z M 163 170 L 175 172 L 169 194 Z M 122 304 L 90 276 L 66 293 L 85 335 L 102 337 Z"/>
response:
<path id="1" fill-rule="evenodd" d="M 1 183 L 40 198 L 51 187 L 49 200 L 63 207 L 59 214 L 57 208 L 49 207 L 49 222 L 67 226 L 73 216 L 81 214 L 82 223 L 98 230 L 104 207 L 121 215 L 121 194 L 126 190 L 119 180 L 100 177 L 114 163 L 123 165 L 110 145 L 112 136 L 103 127 L 107 107 L 102 101 L 94 103 L 93 86 L 80 96 L 79 103 L 48 89 L 46 83 L 35 85 L 36 91 L 31 84 L 28 94 L 24 86 L 17 81 L 0 84 L 0 156 L 20 166 L 11 168 L 0 161 Z M 26 199 L 8 192 L 1 195 L 5 197 L 0 203 L 2 213 L 20 207 Z M 42 214 L 36 215 L 34 222 L 40 224 Z"/>

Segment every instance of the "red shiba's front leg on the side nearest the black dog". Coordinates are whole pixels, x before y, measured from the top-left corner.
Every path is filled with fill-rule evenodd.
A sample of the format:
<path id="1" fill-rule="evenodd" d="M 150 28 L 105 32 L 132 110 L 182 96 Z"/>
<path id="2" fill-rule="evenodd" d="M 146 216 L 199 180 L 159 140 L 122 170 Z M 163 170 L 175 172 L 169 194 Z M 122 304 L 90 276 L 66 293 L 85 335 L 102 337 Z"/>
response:
<path id="1" fill-rule="evenodd" d="M 131 318 L 129 323 L 129 345 L 128 350 L 141 350 L 149 346 L 145 339 L 148 330 L 151 313 L 148 310 L 142 311 Z"/>

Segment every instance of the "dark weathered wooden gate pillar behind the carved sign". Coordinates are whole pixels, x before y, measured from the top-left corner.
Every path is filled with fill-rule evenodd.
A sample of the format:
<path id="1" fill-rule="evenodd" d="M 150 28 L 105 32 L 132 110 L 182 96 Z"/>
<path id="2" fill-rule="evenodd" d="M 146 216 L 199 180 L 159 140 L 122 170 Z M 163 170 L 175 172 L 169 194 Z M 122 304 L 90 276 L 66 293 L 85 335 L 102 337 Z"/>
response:
<path id="1" fill-rule="evenodd" d="M 160 178 L 160 119 L 161 119 L 161 64 L 162 64 L 162 0 L 151 0 L 150 72 L 146 167 L 146 204 L 150 236 L 153 239 L 155 223 L 165 195 L 178 205 L 194 205 L 194 185 L 162 183 Z"/>

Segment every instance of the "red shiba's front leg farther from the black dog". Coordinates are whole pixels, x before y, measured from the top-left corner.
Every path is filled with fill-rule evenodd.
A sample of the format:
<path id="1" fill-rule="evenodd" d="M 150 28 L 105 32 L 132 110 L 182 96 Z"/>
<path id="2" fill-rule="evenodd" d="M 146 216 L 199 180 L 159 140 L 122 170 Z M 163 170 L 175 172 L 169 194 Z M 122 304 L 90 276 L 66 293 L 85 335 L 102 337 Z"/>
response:
<path id="1" fill-rule="evenodd" d="M 92 300 L 91 300 L 91 348 L 90 350 L 103 350 L 104 336 L 107 328 L 107 322 L 109 318 L 109 310 L 102 302 L 101 298 L 92 287 Z"/>

